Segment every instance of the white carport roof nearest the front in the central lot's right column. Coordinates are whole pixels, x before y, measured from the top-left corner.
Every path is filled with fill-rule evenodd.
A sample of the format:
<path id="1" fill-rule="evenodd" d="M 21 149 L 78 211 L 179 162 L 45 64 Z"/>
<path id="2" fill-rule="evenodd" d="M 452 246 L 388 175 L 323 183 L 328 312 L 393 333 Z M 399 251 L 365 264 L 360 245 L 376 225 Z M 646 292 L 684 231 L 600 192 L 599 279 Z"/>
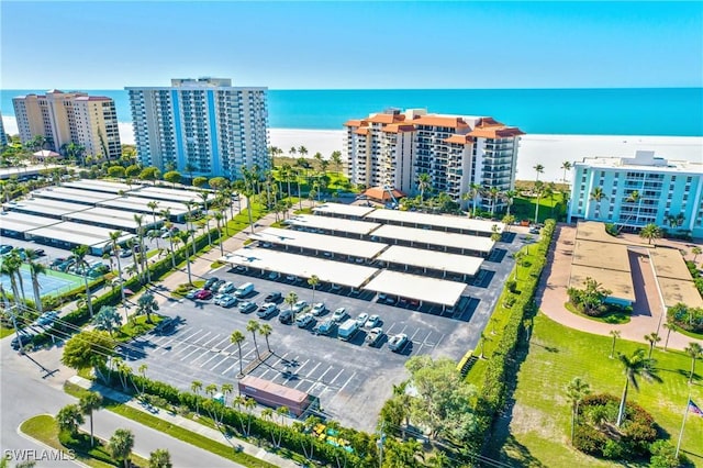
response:
<path id="1" fill-rule="evenodd" d="M 466 285 L 445 279 L 383 270 L 369 281 L 364 289 L 451 307 L 461 297 Z"/>

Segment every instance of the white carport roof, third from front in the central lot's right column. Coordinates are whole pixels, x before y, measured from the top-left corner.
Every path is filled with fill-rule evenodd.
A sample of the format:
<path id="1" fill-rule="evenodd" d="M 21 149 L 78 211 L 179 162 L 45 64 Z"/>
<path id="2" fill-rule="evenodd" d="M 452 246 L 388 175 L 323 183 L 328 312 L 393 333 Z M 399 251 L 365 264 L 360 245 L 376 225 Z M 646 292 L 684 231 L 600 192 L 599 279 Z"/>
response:
<path id="1" fill-rule="evenodd" d="M 395 226 L 384 224 L 373 231 L 371 235 L 380 238 L 410 241 L 419 244 L 438 245 L 442 247 L 465 248 L 467 250 L 489 253 L 493 248 L 490 237 L 468 234 L 446 233 L 442 231 L 422 230 L 417 227 Z"/>

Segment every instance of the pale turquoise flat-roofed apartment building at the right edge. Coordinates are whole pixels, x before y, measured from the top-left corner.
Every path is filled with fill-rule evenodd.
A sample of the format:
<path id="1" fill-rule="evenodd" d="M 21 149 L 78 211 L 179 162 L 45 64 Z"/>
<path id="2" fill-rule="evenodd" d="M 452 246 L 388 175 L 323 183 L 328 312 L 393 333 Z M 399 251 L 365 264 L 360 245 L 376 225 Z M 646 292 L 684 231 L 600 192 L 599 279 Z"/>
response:
<path id="1" fill-rule="evenodd" d="M 657 224 L 703 237 L 703 164 L 635 157 L 587 157 L 574 163 L 568 221 L 593 220 L 627 230 Z M 601 188 L 600 201 L 592 196 Z"/>

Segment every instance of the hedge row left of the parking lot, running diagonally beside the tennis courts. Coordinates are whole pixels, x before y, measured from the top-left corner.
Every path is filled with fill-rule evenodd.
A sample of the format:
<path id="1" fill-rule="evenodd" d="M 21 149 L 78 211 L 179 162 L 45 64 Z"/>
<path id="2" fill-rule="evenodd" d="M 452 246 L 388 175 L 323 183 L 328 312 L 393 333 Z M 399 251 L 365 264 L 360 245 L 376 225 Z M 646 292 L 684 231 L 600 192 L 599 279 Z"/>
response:
<path id="1" fill-rule="evenodd" d="M 210 237 L 214 242 L 220 238 L 220 232 L 213 230 L 210 232 Z M 196 250 L 201 250 L 208 245 L 208 233 L 196 237 Z M 192 254 L 192 243 L 186 244 L 176 250 L 176 264 L 180 264 L 186 260 L 186 257 Z M 158 281 L 164 275 L 171 270 L 170 254 L 163 259 L 149 265 L 149 271 L 152 281 Z M 123 283 L 123 288 L 136 291 L 142 288 L 142 282 L 138 276 L 134 276 Z M 103 305 L 118 305 L 122 300 L 122 292 L 120 288 L 111 288 L 108 292 L 91 298 L 93 314 L 97 313 Z M 63 316 L 60 321 L 54 323 L 46 333 L 35 335 L 32 339 L 33 346 L 43 346 L 52 341 L 52 336 L 63 337 L 72 334 L 76 327 L 82 327 L 90 320 L 90 312 L 87 305 L 82 305 L 75 311 Z"/>

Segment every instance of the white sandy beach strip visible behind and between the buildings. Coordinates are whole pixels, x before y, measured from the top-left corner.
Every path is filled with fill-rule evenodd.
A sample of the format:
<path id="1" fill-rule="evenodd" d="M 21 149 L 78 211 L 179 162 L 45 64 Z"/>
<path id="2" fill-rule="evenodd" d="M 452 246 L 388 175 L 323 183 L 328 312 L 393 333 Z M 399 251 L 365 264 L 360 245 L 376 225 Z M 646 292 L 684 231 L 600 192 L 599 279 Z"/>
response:
<path id="1" fill-rule="evenodd" d="M 16 133 L 14 118 L 2 120 L 7 133 Z M 344 130 L 269 129 L 269 144 L 286 155 L 291 147 L 302 145 L 308 148 L 308 157 L 321 153 L 327 159 L 332 152 L 342 151 L 344 135 Z M 120 122 L 120 138 L 122 143 L 134 144 L 132 124 Z M 533 180 L 533 167 L 542 164 L 545 172 L 540 180 L 560 182 L 563 178 L 560 167 L 566 160 L 573 163 L 585 156 L 632 157 L 637 149 L 654 149 L 658 156 L 671 160 L 703 163 L 702 136 L 525 135 L 517 157 L 517 179 Z"/>

